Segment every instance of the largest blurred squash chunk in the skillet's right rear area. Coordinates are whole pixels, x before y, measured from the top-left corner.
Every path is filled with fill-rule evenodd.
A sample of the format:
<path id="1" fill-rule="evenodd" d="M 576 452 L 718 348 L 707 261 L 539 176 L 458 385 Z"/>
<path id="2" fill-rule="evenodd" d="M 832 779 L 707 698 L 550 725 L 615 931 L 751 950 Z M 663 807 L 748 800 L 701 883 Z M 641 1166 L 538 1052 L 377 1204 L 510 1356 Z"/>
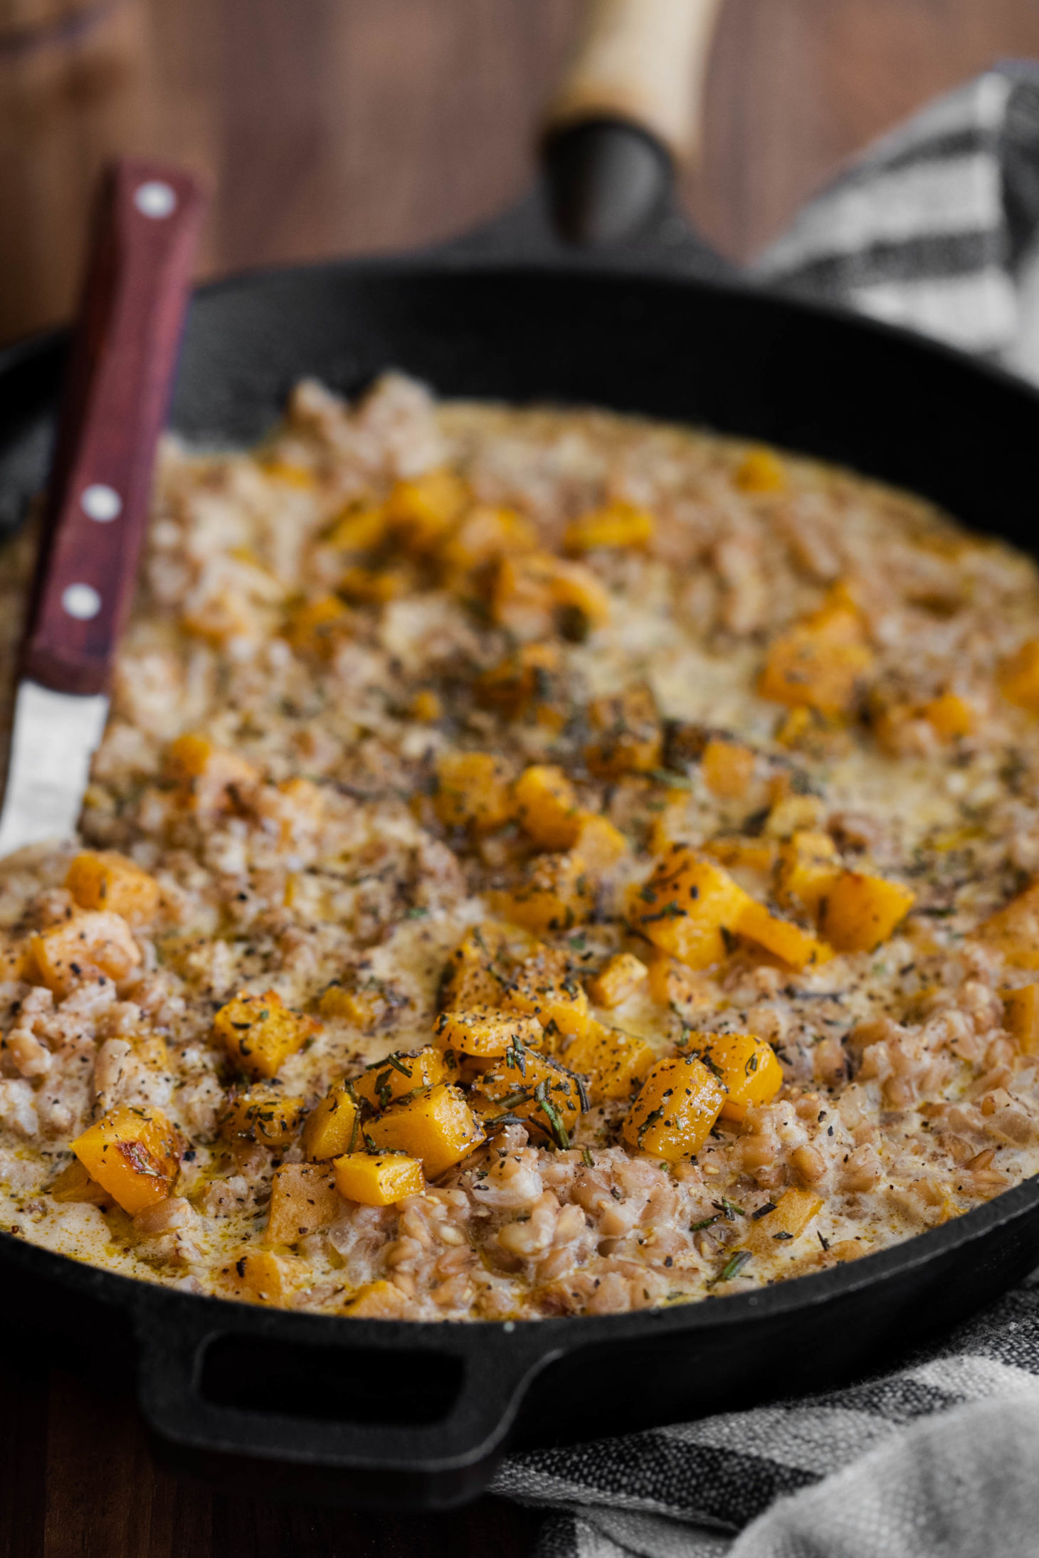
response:
<path id="1" fill-rule="evenodd" d="M 857 612 L 824 608 L 773 640 L 757 690 L 836 718 L 855 707 L 872 664 Z"/>

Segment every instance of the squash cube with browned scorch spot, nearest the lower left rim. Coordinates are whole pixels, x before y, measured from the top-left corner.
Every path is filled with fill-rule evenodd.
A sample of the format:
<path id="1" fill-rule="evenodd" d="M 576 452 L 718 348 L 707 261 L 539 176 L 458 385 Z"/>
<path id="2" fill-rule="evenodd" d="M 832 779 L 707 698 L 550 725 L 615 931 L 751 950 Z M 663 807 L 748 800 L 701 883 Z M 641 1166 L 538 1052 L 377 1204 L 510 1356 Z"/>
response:
<path id="1" fill-rule="evenodd" d="M 72 1142 L 72 1150 L 131 1217 L 164 1201 L 181 1167 L 181 1139 L 156 1108 L 109 1109 Z"/>

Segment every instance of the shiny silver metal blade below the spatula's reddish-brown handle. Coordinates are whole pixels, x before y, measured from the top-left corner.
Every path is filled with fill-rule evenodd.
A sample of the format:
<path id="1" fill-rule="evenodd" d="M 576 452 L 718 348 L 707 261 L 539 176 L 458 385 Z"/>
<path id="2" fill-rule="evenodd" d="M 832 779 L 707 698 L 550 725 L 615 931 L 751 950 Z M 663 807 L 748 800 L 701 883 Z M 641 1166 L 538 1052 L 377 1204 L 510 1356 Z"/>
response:
<path id="1" fill-rule="evenodd" d="M 0 858 L 76 830 L 90 759 L 101 743 L 107 698 L 81 698 L 23 681 L 14 704 Z"/>

